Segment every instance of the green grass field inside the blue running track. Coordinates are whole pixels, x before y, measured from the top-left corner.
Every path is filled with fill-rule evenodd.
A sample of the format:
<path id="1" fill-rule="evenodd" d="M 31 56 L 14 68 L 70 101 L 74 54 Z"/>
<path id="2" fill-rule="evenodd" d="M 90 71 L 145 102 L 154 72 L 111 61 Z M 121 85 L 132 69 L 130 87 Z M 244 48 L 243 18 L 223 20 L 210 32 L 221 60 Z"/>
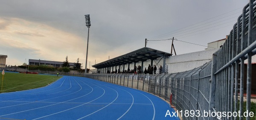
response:
<path id="1" fill-rule="evenodd" d="M 57 77 L 56 75 L 38 75 L 7 72 L 4 76 L 0 76 L 1 87 L 3 78 L 3 90 L 1 90 L 0 93 L 44 87 L 61 78 L 61 76 Z"/>

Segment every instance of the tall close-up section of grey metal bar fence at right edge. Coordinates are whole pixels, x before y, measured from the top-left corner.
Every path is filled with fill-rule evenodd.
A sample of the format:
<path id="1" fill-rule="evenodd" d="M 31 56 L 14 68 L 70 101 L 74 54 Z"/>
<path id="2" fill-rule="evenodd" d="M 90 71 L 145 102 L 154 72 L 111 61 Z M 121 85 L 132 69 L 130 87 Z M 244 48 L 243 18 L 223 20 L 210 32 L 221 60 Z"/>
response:
<path id="1" fill-rule="evenodd" d="M 230 31 L 226 42 L 212 59 L 211 95 L 209 109 L 216 112 L 243 113 L 244 87 L 246 87 L 246 110 L 250 112 L 252 56 L 256 54 L 256 2 L 250 0 Z M 247 65 L 244 60 L 248 61 Z M 244 70 L 247 66 L 247 70 Z M 240 70 L 239 70 L 240 68 Z M 240 72 L 239 72 L 240 71 Z M 247 74 L 245 74 L 247 73 Z M 239 81 L 240 78 L 240 81 Z M 247 84 L 244 84 L 246 81 Z M 255 80 L 254 80 L 255 81 Z M 240 91 L 238 84 L 240 83 Z M 235 89 L 234 89 L 235 88 Z M 238 92 L 240 106 L 238 106 Z M 227 117 L 223 117 L 224 120 Z M 242 117 L 230 117 L 230 120 Z M 250 120 L 250 117 L 246 118 Z"/>

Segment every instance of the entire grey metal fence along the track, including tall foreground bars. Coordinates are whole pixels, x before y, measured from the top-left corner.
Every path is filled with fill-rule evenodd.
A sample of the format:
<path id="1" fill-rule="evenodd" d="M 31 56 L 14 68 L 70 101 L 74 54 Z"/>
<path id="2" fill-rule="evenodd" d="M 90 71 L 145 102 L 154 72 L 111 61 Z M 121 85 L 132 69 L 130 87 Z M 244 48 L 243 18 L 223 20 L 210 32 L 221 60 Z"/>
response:
<path id="1" fill-rule="evenodd" d="M 244 112 L 244 87 L 247 88 L 246 110 L 247 113 L 251 111 L 251 61 L 256 54 L 255 27 L 256 2 L 250 0 L 224 45 L 213 54 L 212 61 L 201 67 L 171 74 L 86 74 L 86 77 L 151 92 L 166 100 L 172 95 L 172 104 L 177 110 L 183 111 L 184 120 L 242 120 L 244 117 L 228 117 L 223 113 Z M 245 60 L 247 64 L 244 64 Z M 247 66 L 247 70 L 244 66 Z M 185 114 L 186 110 L 194 111 L 195 115 Z M 204 116 L 205 111 L 214 112 L 215 117 L 209 114 Z M 250 120 L 250 117 L 246 117 L 246 120 Z"/>

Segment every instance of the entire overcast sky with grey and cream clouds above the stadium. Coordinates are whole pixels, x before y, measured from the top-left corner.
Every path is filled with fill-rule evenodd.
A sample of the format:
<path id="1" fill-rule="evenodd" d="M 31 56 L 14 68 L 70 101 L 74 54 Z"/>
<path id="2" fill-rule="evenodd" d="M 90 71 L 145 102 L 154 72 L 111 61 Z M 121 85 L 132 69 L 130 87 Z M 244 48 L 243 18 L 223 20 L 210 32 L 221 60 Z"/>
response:
<path id="1" fill-rule="evenodd" d="M 226 38 L 248 0 L 0 0 L 0 54 L 7 65 L 25 59 L 85 66 L 145 47 L 171 52 L 172 37 L 199 45 Z M 207 47 L 174 41 L 176 53 Z M 92 69 L 92 67 L 90 67 Z"/>

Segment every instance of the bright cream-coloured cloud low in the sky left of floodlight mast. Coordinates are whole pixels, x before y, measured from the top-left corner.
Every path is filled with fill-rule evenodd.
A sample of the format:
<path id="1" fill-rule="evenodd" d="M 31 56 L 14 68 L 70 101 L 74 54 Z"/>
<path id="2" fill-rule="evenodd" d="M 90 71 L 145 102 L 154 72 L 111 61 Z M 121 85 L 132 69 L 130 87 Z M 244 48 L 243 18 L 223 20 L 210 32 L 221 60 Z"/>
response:
<path id="1" fill-rule="evenodd" d="M 68 56 L 70 62 L 75 62 L 77 58 L 85 58 L 86 44 L 81 37 L 42 23 L 9 19 L 8 29 L 0 30 L 0 47 L 8 50 L 9 59 L 17 58 L 22 64 L 23 59 L 64 61 Z"/>

